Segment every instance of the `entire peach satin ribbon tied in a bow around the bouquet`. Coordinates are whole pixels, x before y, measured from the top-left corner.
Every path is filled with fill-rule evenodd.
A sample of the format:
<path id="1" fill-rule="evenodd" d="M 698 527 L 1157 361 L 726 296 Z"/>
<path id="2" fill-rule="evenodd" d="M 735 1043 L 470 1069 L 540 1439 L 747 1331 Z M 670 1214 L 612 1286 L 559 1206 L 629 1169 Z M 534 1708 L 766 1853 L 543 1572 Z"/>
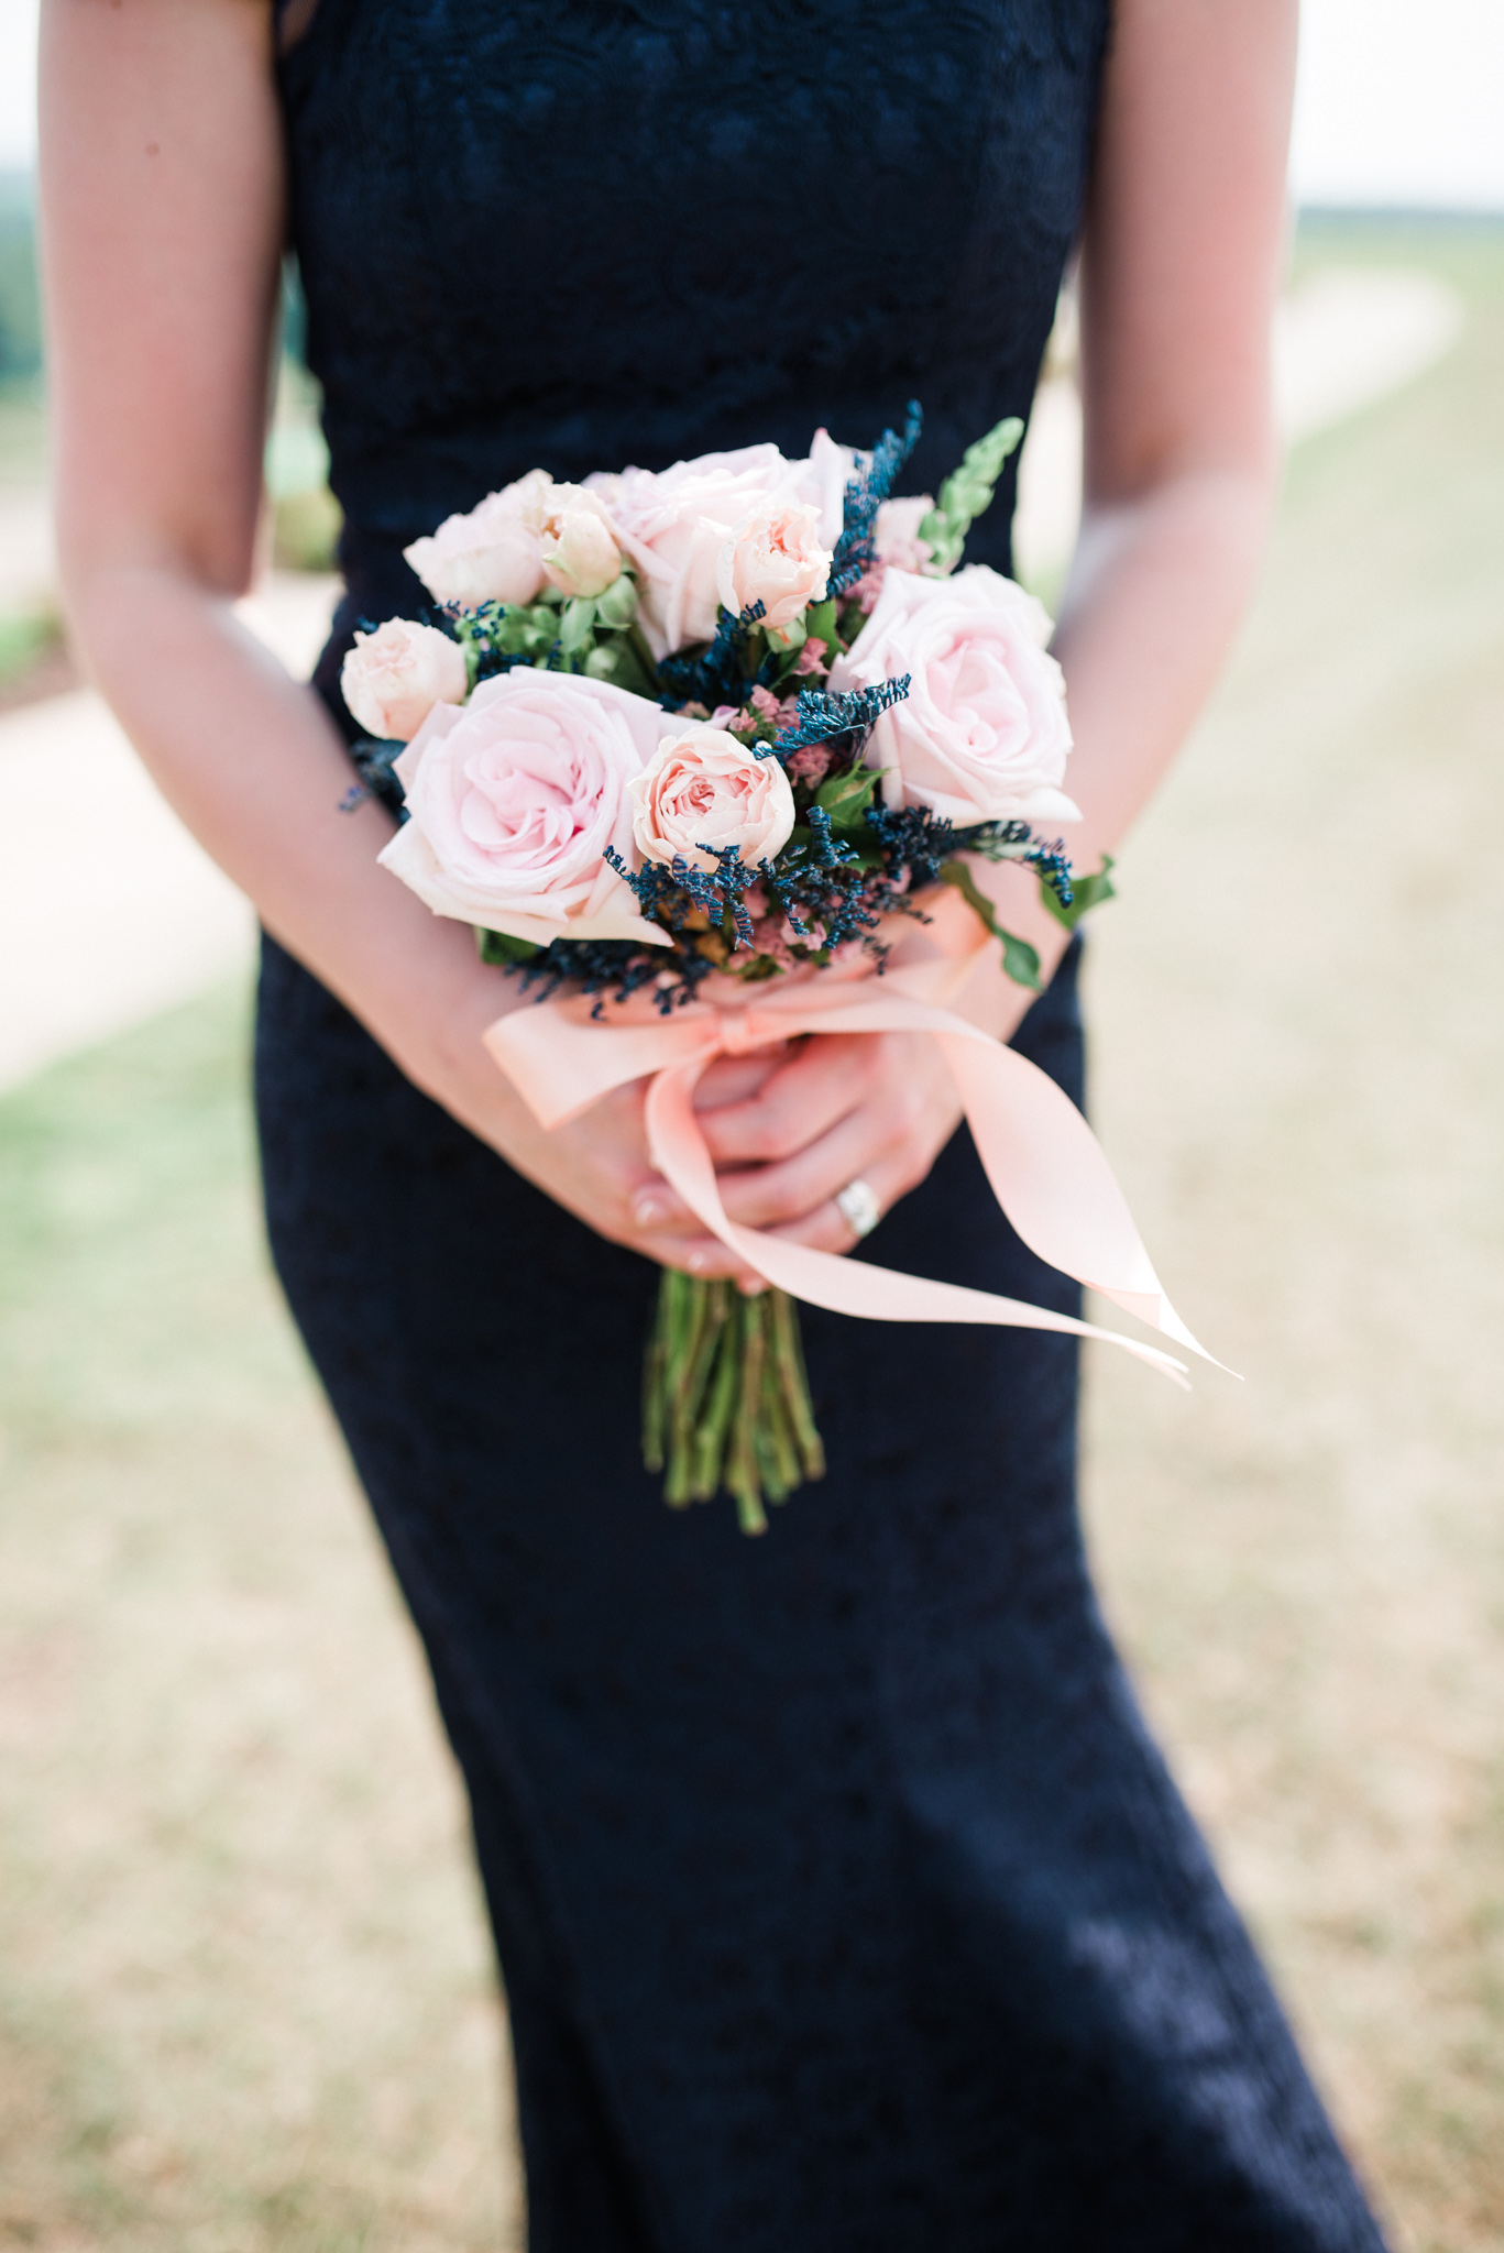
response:
<path id="1" fill-rule="evenodd" d="M 943 1007 L 976 960 L 979 951 L 861 980 L 782 978 L 740 987 L 735 998 L 688 1003 L 672 1016 L 634 998 L 620 1012 L 613 1007 L 611 1023 L 595 1021 L 591 1003 L 570 996 L 512 1012 L 487 1030 L 485 1045 L 543 1126 L 561 1126 L 611 1088 L 652 1075 L 647 1140 L 663 1178 L 746 1266 L 812 1307 L 875 1323 L 992 1323 L 1107 1338 L 1184 1386 L 1184 1361 L 1139 1338 L 1017 1298 L 900 1275 L 740 1228 L 722 1205 L 695 1115 L 695 1088 L 715 1057 L 749 1054 L 800 1032 L 929 1032 L 956 1081 L 992 1192 L 1024 1244 L 1211 1361 L 1164 1295 L 1123 1192 L 1071 1097 L 1026 1057 Z"/>

